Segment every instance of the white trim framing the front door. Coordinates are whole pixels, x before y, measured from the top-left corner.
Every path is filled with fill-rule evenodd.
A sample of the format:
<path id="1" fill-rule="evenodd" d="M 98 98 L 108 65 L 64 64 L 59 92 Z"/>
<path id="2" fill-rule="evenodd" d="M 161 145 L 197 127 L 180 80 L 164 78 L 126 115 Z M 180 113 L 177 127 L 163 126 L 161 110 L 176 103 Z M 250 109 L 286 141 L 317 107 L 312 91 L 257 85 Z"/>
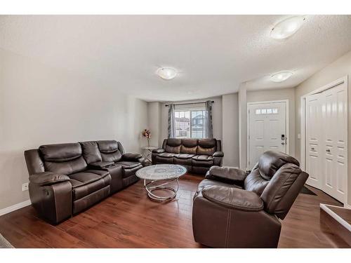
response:
<path id="1" fill-rule="evenodd" d="M 247 154 L 246 154 L 246 167 L 249 167 L 249 161 L 250 161 L 250 113 L 249 113 L 249 106 L 255 105 L 255 104 L 265 104 L 265 103 L 277 103 L 277 102 L 285 102 L 285 128 L 286 128 L 286 153 L 289 154 L 290 151 L 290 137 L 289 137 L 289 100 L 264 100 L 264 101 L 259 101 L 259 102 L 247 102 L 247 119 L 246 119 L 246 124 L 247 124 L 247 138 L 246 138 L 246 149 L 247 149 Z"/>

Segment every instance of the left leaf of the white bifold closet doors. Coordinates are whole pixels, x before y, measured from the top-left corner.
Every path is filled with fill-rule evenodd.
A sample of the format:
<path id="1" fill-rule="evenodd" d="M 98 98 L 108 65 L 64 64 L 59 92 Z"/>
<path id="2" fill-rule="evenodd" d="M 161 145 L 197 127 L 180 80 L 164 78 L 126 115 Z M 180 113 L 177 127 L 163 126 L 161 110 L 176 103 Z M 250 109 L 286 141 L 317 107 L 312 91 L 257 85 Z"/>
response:
<path id="1" fill-rule="evenodd" d="M 310 95 L 306 98 L 306 172 L 310 175 L 307 184 L 321 189 L 322 169 L 322 96 Z"/>

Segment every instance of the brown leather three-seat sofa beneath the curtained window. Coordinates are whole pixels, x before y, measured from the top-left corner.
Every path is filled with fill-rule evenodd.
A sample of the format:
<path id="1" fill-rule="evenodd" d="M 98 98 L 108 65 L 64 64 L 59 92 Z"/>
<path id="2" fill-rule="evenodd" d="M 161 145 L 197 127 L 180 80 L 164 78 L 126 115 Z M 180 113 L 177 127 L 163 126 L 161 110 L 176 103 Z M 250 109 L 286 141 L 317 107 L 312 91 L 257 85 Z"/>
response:
<path id="1" fill-rule="evenodd" d="M 152 164 L 180 164 L 190 173 L 205 174 L 211 166 L 222 166 L 223 156 L 220 140 L 171 138 L 152 151 Z"/>

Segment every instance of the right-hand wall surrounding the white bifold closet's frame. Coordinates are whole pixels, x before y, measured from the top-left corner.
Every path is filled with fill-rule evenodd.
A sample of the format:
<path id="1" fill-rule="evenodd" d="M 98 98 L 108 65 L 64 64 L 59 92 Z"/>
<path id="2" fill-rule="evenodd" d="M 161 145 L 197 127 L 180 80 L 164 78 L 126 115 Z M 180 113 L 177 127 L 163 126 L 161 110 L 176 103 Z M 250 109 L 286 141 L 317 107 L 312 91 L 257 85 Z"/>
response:
<path id="1" fill-rule="evenodd" d="M 341 58 L 331 63 L 324 69 L 315 73 L 309 79 L 303 81 L 296 87 L 296 134 L 301 133 L 301 105 L 300 98 L 302 95 L 310 93 L 317 88 L 325 86 L 343 76 L 348 76 L 348 144 L 351 143 L 351 51 L 346 53 Z M 300 159 L 300 140 L 296 140 L 295 144 L 296 156 Z M 348 147 L 348 203 L 351 204 L 351 147 Z"/>

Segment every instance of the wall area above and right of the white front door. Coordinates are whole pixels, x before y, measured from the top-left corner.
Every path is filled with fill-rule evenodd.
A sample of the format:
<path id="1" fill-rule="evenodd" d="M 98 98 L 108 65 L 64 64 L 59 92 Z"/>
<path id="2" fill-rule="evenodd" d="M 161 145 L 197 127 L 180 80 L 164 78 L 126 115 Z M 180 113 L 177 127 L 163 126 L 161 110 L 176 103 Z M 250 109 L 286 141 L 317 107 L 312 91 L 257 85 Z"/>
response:
<path id="1" fill-rule="evenodd" d="M 289 100 L 289 154 L 295 154 L 295 88 L 282 88 L 274 90 L 256 90 L 247 92 L 247 102 L 260 102 L 271 100 Z"/>

